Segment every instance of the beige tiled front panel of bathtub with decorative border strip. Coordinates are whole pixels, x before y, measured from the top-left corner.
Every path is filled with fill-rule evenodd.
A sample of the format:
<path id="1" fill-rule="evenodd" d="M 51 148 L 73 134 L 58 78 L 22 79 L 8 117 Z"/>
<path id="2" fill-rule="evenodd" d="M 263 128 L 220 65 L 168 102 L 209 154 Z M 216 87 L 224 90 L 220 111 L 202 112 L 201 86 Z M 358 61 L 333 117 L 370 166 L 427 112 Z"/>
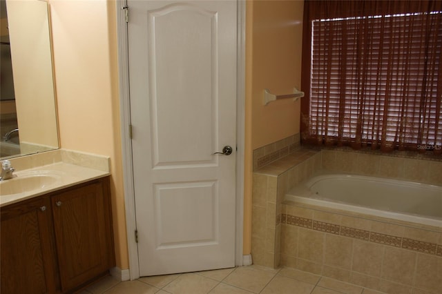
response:
<path id="1" fill-rule="evenodd" d="M 282 205 L 280 264 L 385 293 L 442 293 L 442 228 Z"/>

